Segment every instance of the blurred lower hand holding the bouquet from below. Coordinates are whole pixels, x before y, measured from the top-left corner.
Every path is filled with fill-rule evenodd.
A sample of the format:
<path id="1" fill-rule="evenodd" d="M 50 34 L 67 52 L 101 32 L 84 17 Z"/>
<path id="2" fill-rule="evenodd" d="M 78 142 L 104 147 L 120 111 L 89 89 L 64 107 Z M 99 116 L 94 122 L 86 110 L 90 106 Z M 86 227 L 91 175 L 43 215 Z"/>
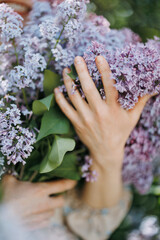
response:
<path id="1" fill-rule="evenodd" d="M 44 183 L 20 182 L 7 175 L 2 179 L 4 202 L 29 229 L 42 228 L 49 224 L 56 208 L 64 205 L 63 196 L 49 197 L 72 189 L 76 182 L 59 180 Z"/>

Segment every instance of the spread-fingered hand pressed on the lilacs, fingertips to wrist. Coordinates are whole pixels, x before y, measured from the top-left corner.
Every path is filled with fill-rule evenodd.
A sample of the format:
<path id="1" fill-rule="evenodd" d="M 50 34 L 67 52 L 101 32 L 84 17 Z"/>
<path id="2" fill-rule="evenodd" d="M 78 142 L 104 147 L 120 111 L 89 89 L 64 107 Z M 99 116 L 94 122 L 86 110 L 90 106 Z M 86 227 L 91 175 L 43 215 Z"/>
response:
<path id="1" fill-rule="evenodd" d="M 117 101 L 118 92 L 107 61 L 98 56 L 96 65 L 102 77 L 106 100 L 101 99 L 84 59 L 76 57 L 75 67 L 88 103 L 77 90 L 72 93 L 73 80 L 67 74 L 69 69 L 64 69 L 63 78 L 75 109 L 58 89 L 55 89 L 56 101 L 88 147 L 95 163 L 102 168 L 121 168 L 125 143 L 150 96 L 140 98 L 133 110 L 124 110 Z"/>

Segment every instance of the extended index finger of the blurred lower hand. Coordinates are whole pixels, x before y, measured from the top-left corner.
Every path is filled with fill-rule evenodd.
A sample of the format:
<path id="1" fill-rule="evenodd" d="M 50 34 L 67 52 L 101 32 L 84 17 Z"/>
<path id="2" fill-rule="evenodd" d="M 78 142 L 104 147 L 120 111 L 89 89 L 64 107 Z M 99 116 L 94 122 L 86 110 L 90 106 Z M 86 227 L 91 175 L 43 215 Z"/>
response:
<path id="1" fill-rule="evenodd" d="M 48 195 L 54 194 L 54 193 L 61 193 L 68 191 L 75 187 L 76 181 L 63 179 L 63 180 L 57 180 L 52 182 L 46 182 L 43 183 L 45 191 Z M 41 183 L 42 184 L 42 183 Z"/>

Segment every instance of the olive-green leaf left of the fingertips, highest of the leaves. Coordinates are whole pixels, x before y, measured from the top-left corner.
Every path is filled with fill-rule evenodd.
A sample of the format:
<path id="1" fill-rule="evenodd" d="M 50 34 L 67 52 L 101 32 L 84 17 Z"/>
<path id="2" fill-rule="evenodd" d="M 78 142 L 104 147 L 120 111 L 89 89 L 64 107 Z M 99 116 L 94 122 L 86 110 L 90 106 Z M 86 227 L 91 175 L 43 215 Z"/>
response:
<path id="1" fill-rule="evenodd" d="M 53 89 L 60 85 L 60 75 L 50 71 L 45 70 L 44 72 L 44 81 L 43 81 L 43 89 L 45 95 L 49 95 L 53 93 Z"/>

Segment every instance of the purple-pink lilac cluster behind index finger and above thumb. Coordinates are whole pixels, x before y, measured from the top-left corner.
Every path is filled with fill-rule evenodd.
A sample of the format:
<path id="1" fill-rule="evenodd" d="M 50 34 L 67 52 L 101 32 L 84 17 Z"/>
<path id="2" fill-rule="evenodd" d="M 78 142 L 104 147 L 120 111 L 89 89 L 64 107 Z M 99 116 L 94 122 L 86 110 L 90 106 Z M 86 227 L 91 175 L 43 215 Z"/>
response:
<path id="1" fill-rule="evenodd" d="M 131 109 L 138 98 L 160 91 L 160 56 L 151 44 L 129 44 L 114 54 L 106 46 L 93 42 L 84 54 L 90 75 L 96 86 L 102 86 L 100 74 L 95 65 L 95 57 L 104 56 L 110 65 L 115 87 L 119 92 L 119 103 L 124 109 Z M 101 90 L 101 92 L 103 92 Z M 104 97 L 104 96 L 102 96 Z"/>

